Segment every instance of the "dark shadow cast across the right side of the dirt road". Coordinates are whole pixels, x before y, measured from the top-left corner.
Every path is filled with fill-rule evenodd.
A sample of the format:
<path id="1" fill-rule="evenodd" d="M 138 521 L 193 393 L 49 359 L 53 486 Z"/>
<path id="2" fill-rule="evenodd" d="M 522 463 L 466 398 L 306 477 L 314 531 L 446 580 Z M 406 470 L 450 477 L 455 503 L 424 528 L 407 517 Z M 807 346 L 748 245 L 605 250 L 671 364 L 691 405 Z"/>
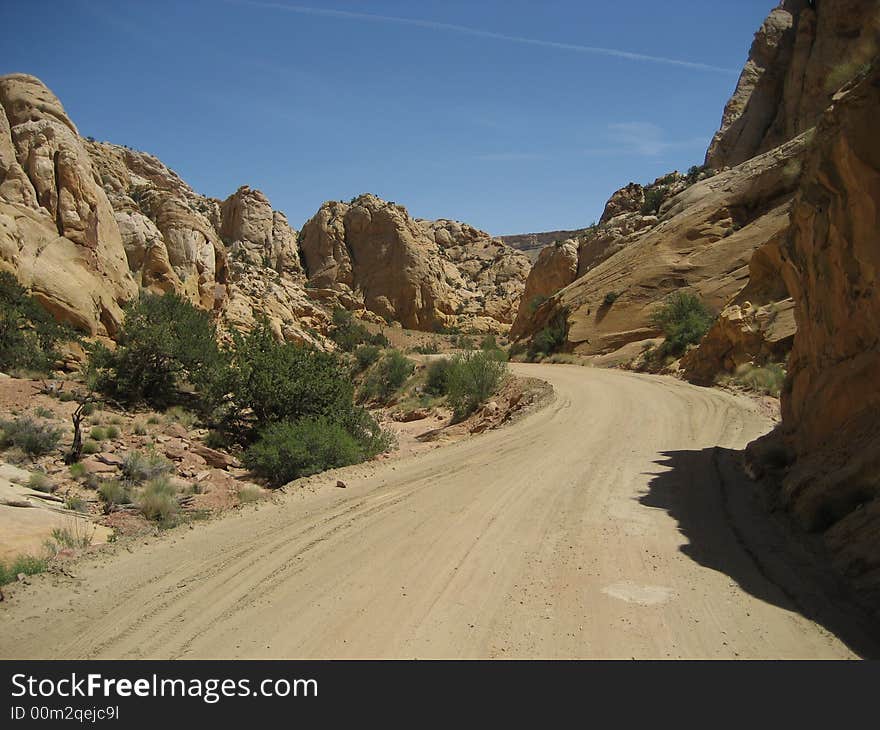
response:
<path id="1" fill-rule="evenodd" d="M 681 552 L 729 576 L 751 595 L 815 621 L 852 651 L 880 657 L 880 632 L 854 607 L 827 556 L 772 515 L 741 467 L 720 447 L 666 451 L 656 461 L 646 507 L 662 509 L 688 543 Z"/>

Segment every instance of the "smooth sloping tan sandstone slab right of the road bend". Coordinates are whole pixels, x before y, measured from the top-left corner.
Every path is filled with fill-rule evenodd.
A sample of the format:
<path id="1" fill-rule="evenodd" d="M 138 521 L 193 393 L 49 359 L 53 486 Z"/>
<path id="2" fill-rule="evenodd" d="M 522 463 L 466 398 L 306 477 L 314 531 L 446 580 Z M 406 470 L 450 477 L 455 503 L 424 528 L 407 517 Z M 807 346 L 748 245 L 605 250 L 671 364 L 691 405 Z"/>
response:
<path id="1" fill-rule="evenodd" d="M 723 309 L 746 285 L 753 252 L 788 226 L 808 139 L 694 184 L 678 175 L 655 181 L 651 188 L 671 196 L 657 216 L 633 212 L 635 202 L 613 210 L 582 241 L 579 278 L 536 313 L 526 334 L 565 312 L 567 349 L 604 355 L 655 337 L 651 313 L 675 290 L 691 289 Z"/>

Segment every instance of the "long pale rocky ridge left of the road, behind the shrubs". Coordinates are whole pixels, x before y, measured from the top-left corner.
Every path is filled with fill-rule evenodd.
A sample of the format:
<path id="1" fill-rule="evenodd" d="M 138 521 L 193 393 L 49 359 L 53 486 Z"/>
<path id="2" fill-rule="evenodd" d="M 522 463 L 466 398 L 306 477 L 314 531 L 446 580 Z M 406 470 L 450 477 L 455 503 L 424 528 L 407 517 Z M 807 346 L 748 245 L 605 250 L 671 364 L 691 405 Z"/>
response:
<path id="1" fill-rule="evenodd" d="M 311 342 L 331 306 L 429 331 L 516 315 L 528 260 L 466 224 L 361 196 L 298 236 L 258 190 L 205 197 L 150 154 L 81 137 L 33 76 L 0 78 L 0 105 L 0 267 L 89 335 L 113 337 L 141 288 Z"/>

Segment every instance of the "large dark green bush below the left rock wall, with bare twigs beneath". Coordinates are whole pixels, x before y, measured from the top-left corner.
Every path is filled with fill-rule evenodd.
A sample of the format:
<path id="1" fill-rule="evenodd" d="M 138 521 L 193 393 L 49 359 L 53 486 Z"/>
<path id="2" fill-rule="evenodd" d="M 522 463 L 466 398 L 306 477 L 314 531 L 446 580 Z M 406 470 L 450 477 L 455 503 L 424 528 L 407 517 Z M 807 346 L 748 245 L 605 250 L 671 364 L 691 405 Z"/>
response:
<path id="1" fill-rule="evenodd" d="M 221 367 L 207 312 L 173 293 L 142 293 L 126 307 L 116 350 L 90 348 L 88 379 L 117 400 L 161 407 L 186 383 L 200 390 Z"/>

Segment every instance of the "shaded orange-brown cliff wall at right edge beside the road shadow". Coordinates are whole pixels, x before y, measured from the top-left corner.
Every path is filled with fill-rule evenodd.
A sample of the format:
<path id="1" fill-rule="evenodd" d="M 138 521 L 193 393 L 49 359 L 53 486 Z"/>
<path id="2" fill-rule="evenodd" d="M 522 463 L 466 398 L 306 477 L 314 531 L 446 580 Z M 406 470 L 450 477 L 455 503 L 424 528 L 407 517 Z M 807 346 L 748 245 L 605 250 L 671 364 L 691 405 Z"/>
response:
<path id="1" fill-rule="evenodd" d="M 880 606 L 880 63 L 817 128 L 782 268 L 798 323 L 782 398 L 783 505 Z M 760 452 L 760 445 L 755 447 Z"/>

